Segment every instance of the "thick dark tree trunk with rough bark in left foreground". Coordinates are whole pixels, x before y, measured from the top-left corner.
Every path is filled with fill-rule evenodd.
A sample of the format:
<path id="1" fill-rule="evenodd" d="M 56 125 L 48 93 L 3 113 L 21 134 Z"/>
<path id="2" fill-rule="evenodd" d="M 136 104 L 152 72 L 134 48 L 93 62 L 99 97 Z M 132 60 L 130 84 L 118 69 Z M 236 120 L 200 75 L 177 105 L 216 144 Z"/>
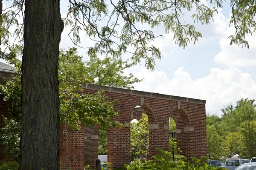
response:
<path id="1" fill-rule="evenodd" d="M 25 0 L 19 170 L 59 170 L 59 0 Z"/>

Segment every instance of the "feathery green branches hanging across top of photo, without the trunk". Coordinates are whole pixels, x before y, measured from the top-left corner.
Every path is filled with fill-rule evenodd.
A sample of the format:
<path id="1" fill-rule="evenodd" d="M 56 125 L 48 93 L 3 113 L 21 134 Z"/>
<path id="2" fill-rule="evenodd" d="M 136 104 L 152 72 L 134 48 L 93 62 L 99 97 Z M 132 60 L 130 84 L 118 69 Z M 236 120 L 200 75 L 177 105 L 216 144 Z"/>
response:
<path id="1" fill-rule="evenodd" d="M 154 69 L 155 59 L 160 59 L 160 50 L 150 42 L 163 35 L 155 35 L 152 31 L 163 25 L 167 34 L 173 34 L 173 40 L 185 48 L 188 43 L 195 43 L 202 35 L 195 26 L 185 23 L 181 16 L 185 11 L 192 11 L 194 22 L 208 24 L 213 16 L 222 8 L 222 0 L 210 0 L 207 3 L 200 0 L 69 0 L 68 12 L 62 18 L 65 26 L 71 26 L 69 36 L 79 46 L 79 32 L 85 32 L 94 41 L 94 46 L 88 47 L 87 55 L 96 58 L 98 54 L 106 57 L 119 58 L 122 53 L 131 53 L 134 64 L 145 61 L 147 69 Z M 248 47 L 245 35 L 256 30 L 254 0 L 230 0 L 232 15 L 230 25 L 236 32 L 230 35 L 230 44 L 236 43 Z M 13 9 L 14 8 L 14 9 Z M 13 9 L 13 10 L 12 10 Z M 23 17 L 24 0 L 13 0 L 12 6 L 1 15 L 1 43 L 10 51 L 21 53 L 18 46 L 23 46 L 23 22 L 17 17 Z M 140 29 L 138 24 L 148 26 Z M 15 26 L 15 32 L 9 28 Z M 10 45 L 9 37 L 16 37 L 16 43 Z M 128 47 L 134 49 L 128 51 Z M 17 50 L 18 49 L 18 50 Z"/>

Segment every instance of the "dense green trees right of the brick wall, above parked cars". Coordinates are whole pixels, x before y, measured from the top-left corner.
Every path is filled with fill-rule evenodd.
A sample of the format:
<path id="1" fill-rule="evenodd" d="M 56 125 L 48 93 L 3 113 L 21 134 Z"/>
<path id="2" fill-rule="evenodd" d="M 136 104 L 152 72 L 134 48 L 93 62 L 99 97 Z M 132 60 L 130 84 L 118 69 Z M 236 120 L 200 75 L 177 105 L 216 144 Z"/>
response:
<path id="1" fill-rule="evenodd" d="M 238 154 L 241 158 L 256 156 L 254 133 L 256 105 L 254 99 L 241 98 L 221 109 L 223 114 L 207 115 L 207 150 L 211 159 Z"/>

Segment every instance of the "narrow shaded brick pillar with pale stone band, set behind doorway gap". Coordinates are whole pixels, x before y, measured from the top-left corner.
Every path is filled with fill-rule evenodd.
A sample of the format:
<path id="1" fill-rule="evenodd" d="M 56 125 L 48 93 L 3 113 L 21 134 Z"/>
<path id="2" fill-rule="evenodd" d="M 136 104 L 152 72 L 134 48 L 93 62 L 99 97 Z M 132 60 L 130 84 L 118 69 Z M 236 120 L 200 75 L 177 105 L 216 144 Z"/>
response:
<path id="1" fill-rule="evenodd" d="M 95 169 L 99 151 L 99 127 L 84 127 L 84 160 Z"/>

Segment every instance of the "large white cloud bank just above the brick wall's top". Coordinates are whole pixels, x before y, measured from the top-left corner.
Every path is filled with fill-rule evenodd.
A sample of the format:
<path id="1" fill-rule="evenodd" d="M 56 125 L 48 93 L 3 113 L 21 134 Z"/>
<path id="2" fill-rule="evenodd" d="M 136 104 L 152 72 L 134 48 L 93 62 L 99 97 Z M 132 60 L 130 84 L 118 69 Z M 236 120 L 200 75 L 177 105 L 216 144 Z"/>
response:
<path id="1" fill-rule="evenodd" d="M 240 98 L 256 98 L 256 82 L 250 74 L 242 73 L 236 67 L 212 68 L 210 75 L 197 80 L 192 80 L 183 67 L 174 72 L 172 80 L 164 72 L 148 72 L 146 69 L 134 75 L 144 78 L 143 82 L 135 84 L 136 90 L 207 100 L 206 110 L 212 112 Z"/>

